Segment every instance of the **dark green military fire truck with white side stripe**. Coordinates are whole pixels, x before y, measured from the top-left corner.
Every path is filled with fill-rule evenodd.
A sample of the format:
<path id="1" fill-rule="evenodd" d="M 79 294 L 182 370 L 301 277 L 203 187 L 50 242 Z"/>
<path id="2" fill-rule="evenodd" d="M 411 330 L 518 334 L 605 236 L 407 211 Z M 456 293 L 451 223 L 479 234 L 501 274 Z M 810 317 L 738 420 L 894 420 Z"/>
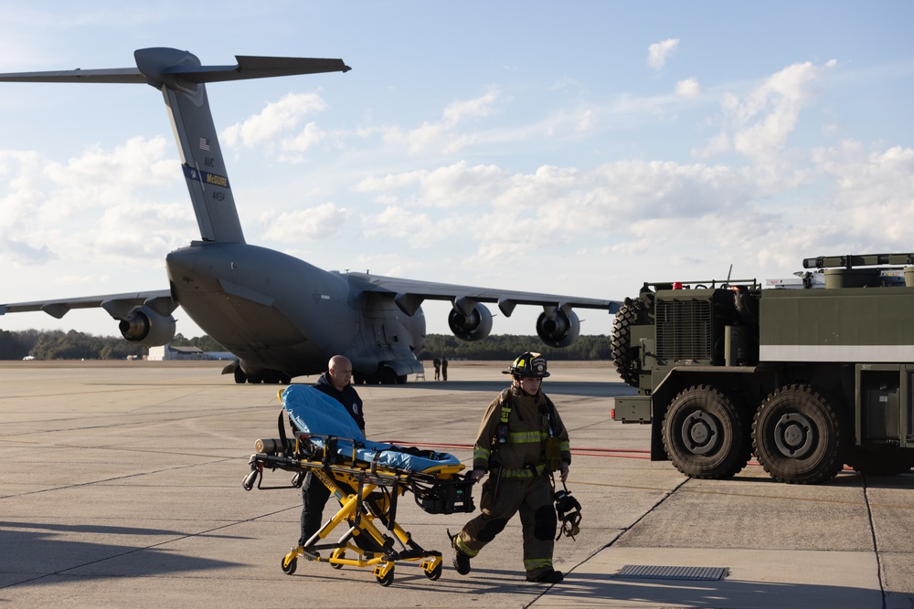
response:
<path id="1" fill-rule="evenodd" d="M 645 283 L 612 329 L 651 458 L 729 478 L 754 454 L 816 484 L 914 466 L 914 254 L 816 257 L 791 279 Z"/>

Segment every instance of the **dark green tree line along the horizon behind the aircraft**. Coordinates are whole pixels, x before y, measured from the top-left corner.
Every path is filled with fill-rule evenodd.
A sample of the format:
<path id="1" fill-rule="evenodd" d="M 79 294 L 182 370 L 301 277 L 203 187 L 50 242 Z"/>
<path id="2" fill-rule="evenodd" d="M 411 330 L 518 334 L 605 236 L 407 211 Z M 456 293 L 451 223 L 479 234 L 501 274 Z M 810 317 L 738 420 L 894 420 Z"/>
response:
<path id="1" fill-rule="evenodd" d="M 205 352 L 226 351 L 207 335 L 187 339 L 176 334 L 171 344 L 175 347 L 198 347 Z M 449 360 L 510 362 L 527 351 L 540 352 L 551 360 L 611 360 L 610 339 L 601 334 L 581 336 L 570 347 L 563 349 L 548 347 L 536 336 L 494 334 L 482 341 L 466 342 L 450 334 L 429 334 L 416 357 L 420 360 L 446 357 Z M 36 360 L 125 360 L 148 354 L 148 347 L 125 341 L 119 336 L 95 336 L 75 330 L 0 330 L 0 360 L 21 360 L 27 356 Z"/>

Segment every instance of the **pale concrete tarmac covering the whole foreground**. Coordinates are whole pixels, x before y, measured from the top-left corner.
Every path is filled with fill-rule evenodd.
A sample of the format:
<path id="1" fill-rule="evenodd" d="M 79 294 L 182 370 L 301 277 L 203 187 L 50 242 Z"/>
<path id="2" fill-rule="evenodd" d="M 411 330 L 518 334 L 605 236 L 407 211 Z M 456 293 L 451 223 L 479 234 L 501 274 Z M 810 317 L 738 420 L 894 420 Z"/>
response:
<path id="1" fill-rule="evenodd" d="M 360 387 L 368 438 L 469 464 L 505 365 L 451 362 L 448 382 L 429 370 L 424 383 Z M 813 487 L 756 465 L 684 478 L 646 458 L 648 426 L 611 420 L 613 397 L 632 389 L 606 362 L 550 362 L 544 383 L 582 504 L 577 540 L 556 543 L 565 582 L 524 581 L 516 519 L 459 575 L 445 531 L 474 514 L 429 514 L 410 494 L 397 520 L 444 553 L 441 579 L 418 562 L 398 562 L 388 587 L 370 569 L 301 560 L 286 575 L 300 491 L 241 488 L 254 440 L 276 436 L 281 387 L 236 385 L 220 368 L 0 363 L 0 606 L 914 607 L 914 473 L 848 471 Z"/>

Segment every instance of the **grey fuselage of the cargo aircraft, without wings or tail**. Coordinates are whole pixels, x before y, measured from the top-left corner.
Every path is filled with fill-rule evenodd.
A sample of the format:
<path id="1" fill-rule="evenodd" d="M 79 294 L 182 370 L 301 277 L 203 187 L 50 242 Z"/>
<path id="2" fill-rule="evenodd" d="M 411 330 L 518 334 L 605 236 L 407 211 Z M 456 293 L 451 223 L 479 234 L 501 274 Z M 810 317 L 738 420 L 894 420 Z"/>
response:
<path id="1" fill-rule="evenodd" d="M 362 289 L 363 279 L 265 247 L 195 241 L 165 266 L 175 300 L 249 375 L 321 373 L 329 352 L 370 376 L 379 352 L 395 360 L 424 342 L 421 311 L 407 318 L 392 299 Z"/>

